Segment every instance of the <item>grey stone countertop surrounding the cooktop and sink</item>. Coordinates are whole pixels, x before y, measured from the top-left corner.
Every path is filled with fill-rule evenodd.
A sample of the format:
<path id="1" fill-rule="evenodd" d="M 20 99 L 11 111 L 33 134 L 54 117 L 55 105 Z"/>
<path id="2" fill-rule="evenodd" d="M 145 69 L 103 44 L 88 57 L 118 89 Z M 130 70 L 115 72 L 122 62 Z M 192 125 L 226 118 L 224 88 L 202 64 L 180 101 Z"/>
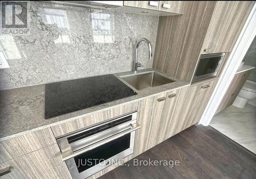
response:
<path id="1" fill-rule="evenodd" d="M 138 73 L 152 70 L 155 69 L 138 70 Z M 116 105 L 132 103 L 145 97 L 189 86 L 188 82 L 180 81 L 161 72 L 159 73 L 175 80 L 175 82 L 138 91 L 120 78 L 120 76 L 134 74 L 133 71 L 114 73 L 119 80 L 138 94 L 49 119 L 45 119 L 45 87 L 47 84 L 2 90 L 0 91 L 0 140 L 11 138 L 18 133 L 38 130 L 57 123 L 66 122 L 74 117 L 88 115 L 89 113 Z"/>

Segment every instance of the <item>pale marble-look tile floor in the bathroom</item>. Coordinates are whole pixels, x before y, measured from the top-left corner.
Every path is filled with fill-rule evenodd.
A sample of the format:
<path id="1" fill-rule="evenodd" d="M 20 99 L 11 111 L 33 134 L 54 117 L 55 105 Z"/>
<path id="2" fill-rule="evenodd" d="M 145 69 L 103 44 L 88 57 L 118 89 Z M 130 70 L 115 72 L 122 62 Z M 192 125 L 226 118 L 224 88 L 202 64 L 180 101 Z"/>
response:
<path id="1" fill-rule="evenodd" d="M 256 154 L 256 107 L 230 106 L 216 114 L 210 126 Z"/>

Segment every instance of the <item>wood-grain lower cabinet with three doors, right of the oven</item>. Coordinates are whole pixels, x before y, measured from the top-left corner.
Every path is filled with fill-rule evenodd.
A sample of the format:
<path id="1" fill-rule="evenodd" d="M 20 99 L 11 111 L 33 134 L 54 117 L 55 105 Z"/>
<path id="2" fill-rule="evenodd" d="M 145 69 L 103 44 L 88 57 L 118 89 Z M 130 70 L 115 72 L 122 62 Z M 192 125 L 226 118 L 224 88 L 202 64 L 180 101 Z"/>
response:
<path id="1" fill-rule="evenodd" d="M 134 156 L 138 156 L 201 119 L 217 80 L 139 101 Z"/>

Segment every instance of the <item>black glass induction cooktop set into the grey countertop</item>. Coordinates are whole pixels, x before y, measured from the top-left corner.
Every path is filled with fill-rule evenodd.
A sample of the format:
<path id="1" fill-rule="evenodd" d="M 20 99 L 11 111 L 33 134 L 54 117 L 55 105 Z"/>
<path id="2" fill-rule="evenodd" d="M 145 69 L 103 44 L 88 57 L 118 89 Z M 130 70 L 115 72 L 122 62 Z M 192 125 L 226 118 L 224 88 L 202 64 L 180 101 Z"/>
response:
<path id="1" fill-rule="evenodd" d="M 46 119 L 137 94 L 113 74 L 50 83 L 45 88 Z"/>

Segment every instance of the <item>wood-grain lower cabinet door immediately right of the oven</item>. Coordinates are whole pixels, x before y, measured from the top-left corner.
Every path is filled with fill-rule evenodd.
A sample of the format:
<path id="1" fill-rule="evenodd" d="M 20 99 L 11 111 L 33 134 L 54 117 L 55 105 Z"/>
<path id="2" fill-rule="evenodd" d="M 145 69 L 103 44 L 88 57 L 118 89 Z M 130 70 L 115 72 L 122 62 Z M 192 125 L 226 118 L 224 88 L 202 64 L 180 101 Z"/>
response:
<path id="1" fill-rule="evenodd" d="M 139 101 L 137 120 L 141 129 L 136 131 L 134 157 L 159 142 L 159 129 L 165 104 L 166 93 Z"/>

